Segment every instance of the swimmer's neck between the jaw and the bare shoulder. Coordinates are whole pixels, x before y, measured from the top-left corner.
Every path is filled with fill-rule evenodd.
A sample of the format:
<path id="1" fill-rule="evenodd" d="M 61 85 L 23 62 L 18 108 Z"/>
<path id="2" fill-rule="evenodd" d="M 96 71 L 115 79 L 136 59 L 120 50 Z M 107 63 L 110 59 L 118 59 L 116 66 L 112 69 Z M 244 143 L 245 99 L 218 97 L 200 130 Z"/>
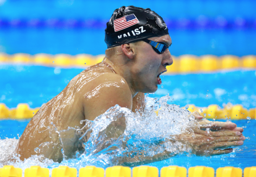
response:
<path id="1" fill-rule="evenodd" d="M 136 94 L 138 94 L 138 91 L 135 91 L 135 89 L 133 89 L 133 84 L 132 84 L 133 80 L 131 77 L 131 70 L 129 69 L 128 65 L 125 65 L 121 62 L 116 64 L 112 62 L 110 59 L 108 59 L 107 57 L 104 57 L 104 60 L 102 61 L 102 63 L 110 67 L 114 73 L 121 75 L 125 79 L 125 81 L 128 83 L 131 89 L 131 93 L 133 97 L 136 96 Z"/>

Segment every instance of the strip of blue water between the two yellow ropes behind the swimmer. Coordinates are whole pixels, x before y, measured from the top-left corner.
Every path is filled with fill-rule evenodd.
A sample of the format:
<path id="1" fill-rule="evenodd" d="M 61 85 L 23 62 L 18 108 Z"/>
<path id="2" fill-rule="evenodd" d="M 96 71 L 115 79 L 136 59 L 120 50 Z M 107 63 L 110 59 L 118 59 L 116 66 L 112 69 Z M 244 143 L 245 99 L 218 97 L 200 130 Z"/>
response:
<path id="1" fill-rule="evenodd" d="M 81 68 L 49 68 L 29 65 L 0 65 L 0 102 L 7 107 L 27 103 L 31 108 L 41 107 L 60 93 Z M 184 107 L 195 104 L 242 104 L 256 107 L 256 71 L 222 70 L 215 73 L 162 75 L 162 85 L 151 97 L 169 94 L 169 104 Z M 163 87 L 163 88 L 162 88 Z M 207 96 L 206 96 L 207 95 Z"/>

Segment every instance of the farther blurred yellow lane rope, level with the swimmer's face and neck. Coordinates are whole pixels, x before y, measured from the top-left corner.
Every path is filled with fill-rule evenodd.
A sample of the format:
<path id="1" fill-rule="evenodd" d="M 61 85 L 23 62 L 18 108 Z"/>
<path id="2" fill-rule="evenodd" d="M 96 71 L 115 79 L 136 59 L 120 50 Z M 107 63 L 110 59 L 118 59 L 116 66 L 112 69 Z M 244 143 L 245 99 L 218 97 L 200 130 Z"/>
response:
<path id="1" fill-rule="evenodd" d="M 88 54 L 29 55 L 24 53 L 8 55 L 0 53 L 0 63 L 43 65 L 61 68 L 87 68 L 101 62 L 104 56 Z M 256 69 L 256 55 L 246 55 L 240 58 L 234 55 L 224 55 L 221 57 L 215 55 L 202 55 L 200 57 L 195 55 L 180 55 L 179 57 L 172 56 L 172 58 L 174 62 L 171 66 L 167 66 L 167 73 L 199 73 L 239 68 Z"/>

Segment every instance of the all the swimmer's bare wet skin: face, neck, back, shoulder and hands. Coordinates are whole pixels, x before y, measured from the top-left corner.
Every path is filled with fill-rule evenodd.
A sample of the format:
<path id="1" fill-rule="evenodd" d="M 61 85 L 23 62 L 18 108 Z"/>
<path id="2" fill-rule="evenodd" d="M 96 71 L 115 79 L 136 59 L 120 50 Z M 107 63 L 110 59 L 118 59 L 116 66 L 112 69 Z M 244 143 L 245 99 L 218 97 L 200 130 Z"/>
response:
<path id="1" fill-rule="evenodd" d="M 172 43 L 169 35 L 150 39 L 167 45 Z M 78 74 L 60 94 L 39 109 L 21 135 L 16 153 L 21 155 L 21 160 L 43 154 L 60 162 L 63 160 L 63 148 L 67 158 L 73 156 L 77 150 L 83 149 L 78 142 L 79 135 L 75 133 L 75 128 L 84 127 L 81 120 L 94 120 L 116 104 L 133 112 L 143 107 L 144 93 L 157 91 L 157 76 L 165 72 L 166 66 L 172 62 L 169 49 L 157 54 L 146 42 L 116 47 L 115 55 L 106 56 L 101 63 Z M 244 137 L 240 132 L 243 129 L 236 128 L 234 123 L 209 124 L 199 115 L 194 116 L 201 124 L 201 129 L 195 128 L 195 138 L 191 138 L 191 134 L 182 134 L 177 136 L 177 140 L 188 143 L 195 154 L 204 154 L 205 149 L 212 150 L 208 155 L 225 154 L 231 150 L 215 152 L 214 149 L 242 145 Z M 125 123 L 122 126 L 125 127 Z M 222 131 L 208 135 L 205 128 L 222 128 Z M 207 138 L 210 146 L 205 145 Z M 159 156 L 161 154 L 145 159 L 145 162 L 157 161 Z"/>

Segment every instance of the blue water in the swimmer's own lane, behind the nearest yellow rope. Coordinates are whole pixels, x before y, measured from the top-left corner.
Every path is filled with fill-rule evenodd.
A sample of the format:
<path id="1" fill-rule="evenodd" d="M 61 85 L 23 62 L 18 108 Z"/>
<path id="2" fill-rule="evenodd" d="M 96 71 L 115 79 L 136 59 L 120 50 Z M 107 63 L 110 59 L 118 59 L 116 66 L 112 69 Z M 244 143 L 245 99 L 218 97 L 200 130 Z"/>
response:
<path id="1" fill-rule="evenodd" d="M 224 120 L 222 120 L 224 121 Z M 5 138 L 13 138 L 15 137 L 18 139 L 18 135 L 21 135 L 24 131 L 27 123 L 29 120 L 1 120 L 0 121 L 0 134 L 1 139 L 6 140 Z M 243 146 L 240 146 L 239 148 L 234 148 L 235 152 L 232 152 L 231 154 L 225 154 L 220 156 L 195 156 L 195 155 L 176 155 L 174 157 L 171 157 L 170 159 L 154 162 L 152 164 L 148 164 L 150 166 L 155 166 L 159 170 L 162 167 L 169 166 L 169 165 L 178 165 L 182 167 L 194 167 L 194 166 L 208 166 L 213 167 L 214 169 L 217 169 L 219 167 L 226 167 L 226 166 L 232 166 L 232 167 L 240 167 L 244 169 L 245 167 L 251 167 L 256 166 L 255 158 L 256 158 L 256 138 L 255 138 L 255 126 L 256 126 L 256 120 L 232 120 L 232 122 L 236 123 L 239 127 L 246 127 L 244 128 L 243 135 L 246 136 L 246 140 L 244 141 Z M 13 128 L 15 126 L 15 128 Z M 1 143 L 2 143 L 1 142 Z M 3 146 L 3 144 L 1 144 Z M 1 149 L 1 148 L 0 148 Z M 3 155 L 3 152 L 0 152 L 0 156 Z M 48 168 L 52 169 L 54 167 L 58 167 L 60 165 L 68 165 L 69 167 L 78 167 L 79 161 L 81 160 L 75 160 L 74 159 L 67 159 L 63 163 L 48 163 L 43 164 L 39 163 L 36 160 L 31 160 L 29 163 L 26 161 L 26 163 L 16 163 L 15 166 L 21 167 L 21 168 L 27 168 L 30 165 L 36 165 L 33 163 L 38 163 L 40 166 L 46 166 L 50 165 Z M 76 162 L 77 166 L 74 164 Z M 83 164 L 84 161 L 81 161 L 81 164 Z M 88 165 L 88 163 L 87 163 Z M 106 168 L 108 165 L 103 163 L 96 163 L 91 164 L 96 165 L 99 167 Z M 0 164 L 1 166 L 1 164 Z M 80 167 L 80 166 L 79 166 Z M 78 168 L 79 169 L 79 168 Z"/>

